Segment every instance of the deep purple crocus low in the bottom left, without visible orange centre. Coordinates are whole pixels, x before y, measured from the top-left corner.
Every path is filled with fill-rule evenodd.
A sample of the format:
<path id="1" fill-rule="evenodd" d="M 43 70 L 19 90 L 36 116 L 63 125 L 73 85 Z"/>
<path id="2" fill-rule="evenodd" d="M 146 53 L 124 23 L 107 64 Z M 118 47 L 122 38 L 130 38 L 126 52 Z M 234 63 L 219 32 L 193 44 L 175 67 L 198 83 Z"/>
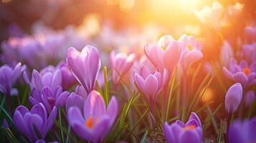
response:
<path id="1" fill-rule="evenodd" d="M 16 108 L 13 119 L 16 129 L 24 134 L 30 142 L 35 142 L 37 139 L 43 139 L 47 135 L 56 117 L 57 107 L 54 107 L 48 116 L 47 109 L 40 103 L 34 105 L 30 111 L 27 107 L 20 105 Z M 37 136 L 37 132 L 40 137 Z"/>

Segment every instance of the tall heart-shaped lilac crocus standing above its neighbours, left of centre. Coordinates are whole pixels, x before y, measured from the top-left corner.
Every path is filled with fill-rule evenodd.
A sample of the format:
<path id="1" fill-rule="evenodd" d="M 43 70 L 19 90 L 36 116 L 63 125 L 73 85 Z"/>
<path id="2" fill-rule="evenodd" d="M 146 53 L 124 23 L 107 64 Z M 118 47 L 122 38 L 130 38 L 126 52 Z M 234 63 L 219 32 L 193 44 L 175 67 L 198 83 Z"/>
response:
<path id="1" fill-rule="evenodd" d="M 94 88 L 95 80 L 100 71 L 98 49 L 87 45 L 80 52 L 70 47 L 67 50 L 67 63 L 75 79 L 80 82 L 87 94 L 89 94 Z"/>

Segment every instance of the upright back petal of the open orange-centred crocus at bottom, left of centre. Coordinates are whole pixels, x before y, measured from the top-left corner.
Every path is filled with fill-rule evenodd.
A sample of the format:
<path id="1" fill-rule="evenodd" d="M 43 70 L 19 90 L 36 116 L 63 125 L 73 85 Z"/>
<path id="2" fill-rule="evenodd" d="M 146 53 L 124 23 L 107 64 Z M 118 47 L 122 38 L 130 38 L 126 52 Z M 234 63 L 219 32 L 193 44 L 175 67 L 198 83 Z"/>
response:
<path id="1" fill-rule="evenodd" d="M 85 101 L 84 106 L 84 116 L 85 119 L 88 119 L 90 116 L 95 118 L 100 117 L 102 114 L 105 114 L 105 102 L 103 97 L 99 92 L 92 91 Z"/>

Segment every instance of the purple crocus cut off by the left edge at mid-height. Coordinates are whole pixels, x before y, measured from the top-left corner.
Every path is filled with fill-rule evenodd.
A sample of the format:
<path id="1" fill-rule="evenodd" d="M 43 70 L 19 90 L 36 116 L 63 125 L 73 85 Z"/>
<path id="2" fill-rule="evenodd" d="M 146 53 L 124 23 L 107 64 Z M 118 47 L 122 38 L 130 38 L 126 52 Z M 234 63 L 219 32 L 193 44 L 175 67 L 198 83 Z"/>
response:
<path id="1" fill-rule="evenodd" d="M 0 92 L 9 96 L 16 95 L 17 90 L 12 89 L 15 82 L 21 76 L 26 66 L 22 66 L 21 63 L 16 64 L 14 68 L 8 65 L 0 67 Z"/>

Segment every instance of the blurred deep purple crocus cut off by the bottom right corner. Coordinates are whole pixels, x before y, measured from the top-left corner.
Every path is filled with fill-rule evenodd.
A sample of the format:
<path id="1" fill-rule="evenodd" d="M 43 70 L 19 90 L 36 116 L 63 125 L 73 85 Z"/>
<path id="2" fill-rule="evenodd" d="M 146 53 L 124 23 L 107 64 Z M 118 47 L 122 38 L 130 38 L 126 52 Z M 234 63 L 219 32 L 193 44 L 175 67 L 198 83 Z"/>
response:
<path id="1" fill-rule="evenodd" d="M 247 143 L 256 142 L 256 117 L 252 119 L 234 120 L 229 126 L 228 140 L 229 143 Z"/>

